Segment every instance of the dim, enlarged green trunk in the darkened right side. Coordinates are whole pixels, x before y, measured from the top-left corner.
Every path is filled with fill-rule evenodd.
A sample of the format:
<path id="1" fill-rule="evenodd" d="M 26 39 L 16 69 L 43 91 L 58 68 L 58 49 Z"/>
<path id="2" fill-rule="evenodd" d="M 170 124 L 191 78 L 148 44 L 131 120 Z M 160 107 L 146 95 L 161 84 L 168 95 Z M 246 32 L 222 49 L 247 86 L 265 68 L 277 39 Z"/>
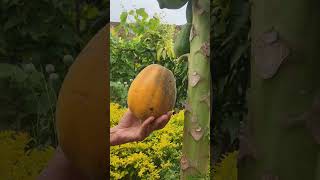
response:
<path id="1" fill-rule="evenodd" d="M 320 179 L 320 1 L 253 0 L 240 180 Z"/>

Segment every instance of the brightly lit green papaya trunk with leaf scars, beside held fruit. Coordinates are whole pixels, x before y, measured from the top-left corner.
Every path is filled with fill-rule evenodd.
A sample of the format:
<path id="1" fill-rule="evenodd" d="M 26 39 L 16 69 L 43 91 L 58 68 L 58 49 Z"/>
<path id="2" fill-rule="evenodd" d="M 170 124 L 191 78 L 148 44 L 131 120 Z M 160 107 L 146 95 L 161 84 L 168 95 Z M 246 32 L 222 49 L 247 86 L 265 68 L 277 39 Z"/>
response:
<path id="1" fill-rule="evenodd" d="M 181 179 L 207 179 L 210 155 L 210 1 L 192 1 Z"/>

